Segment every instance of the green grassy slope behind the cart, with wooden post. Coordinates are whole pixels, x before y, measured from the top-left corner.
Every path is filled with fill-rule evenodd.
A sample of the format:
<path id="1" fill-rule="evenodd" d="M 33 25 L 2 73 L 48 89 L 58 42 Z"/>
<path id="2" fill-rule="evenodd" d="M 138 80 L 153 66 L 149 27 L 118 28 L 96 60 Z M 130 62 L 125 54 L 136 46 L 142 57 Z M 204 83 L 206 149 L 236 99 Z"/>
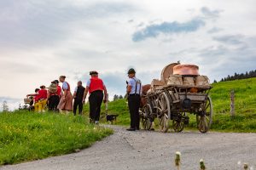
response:
<path id="1" fill-rule="evenodd" d="M 212 84 L 210 96 L 213 103 L 212 131 L 256 133 L 256 78 L 218 82 Z M 235 90 L 236 117 L 230 120 L 230 90 Z M 116 124 L 129 126 L 130 116 L 125 99 L 109 103 L 109 113 L 118 114 Z M 89 106 L 84 108 L 89 112 Z M 102 105 L 102 122 L 106 122 Z M 189 130 L 196 130 L 195 116 L 189 116 Z"/>

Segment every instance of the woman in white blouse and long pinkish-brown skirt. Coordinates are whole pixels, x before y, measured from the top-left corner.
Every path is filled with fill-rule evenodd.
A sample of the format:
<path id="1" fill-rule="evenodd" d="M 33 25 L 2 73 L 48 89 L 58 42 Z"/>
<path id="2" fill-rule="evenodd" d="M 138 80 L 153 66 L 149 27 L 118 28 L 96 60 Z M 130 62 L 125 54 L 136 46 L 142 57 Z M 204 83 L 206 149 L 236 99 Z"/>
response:
<path id="1" fill-rule="evenodd" d="M 60 113 L 66 111 L 68 114 L 69 111 L 73 110 L 73 96 L 70 92 L 70 86 L 65 80 L 65 76 L 60 77 L 60 82 L 62 82 L 62 90 L 64 93 L 61 95 L 61 100 L 57 108 L 59 109 Z"/>

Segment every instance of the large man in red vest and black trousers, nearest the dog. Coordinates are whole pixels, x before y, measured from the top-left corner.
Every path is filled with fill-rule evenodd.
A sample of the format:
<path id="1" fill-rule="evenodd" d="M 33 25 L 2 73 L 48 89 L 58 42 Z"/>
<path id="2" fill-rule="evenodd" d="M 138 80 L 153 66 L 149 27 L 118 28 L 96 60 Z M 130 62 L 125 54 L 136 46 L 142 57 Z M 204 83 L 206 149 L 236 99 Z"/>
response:
<path id="1" fill-rule="evenodd" d="M 98 77 L 97 71 L 90 71 L 90 77 L 91 78 L 87 82 L 86 88 L 84 90 L 83 103 L 89 92 L 90 123 L 98 124 L 100 120 L 102 100 L 104 103 L 107 102 L 108 92 L 106 86 L 104 85 L 104 82 Z"/>

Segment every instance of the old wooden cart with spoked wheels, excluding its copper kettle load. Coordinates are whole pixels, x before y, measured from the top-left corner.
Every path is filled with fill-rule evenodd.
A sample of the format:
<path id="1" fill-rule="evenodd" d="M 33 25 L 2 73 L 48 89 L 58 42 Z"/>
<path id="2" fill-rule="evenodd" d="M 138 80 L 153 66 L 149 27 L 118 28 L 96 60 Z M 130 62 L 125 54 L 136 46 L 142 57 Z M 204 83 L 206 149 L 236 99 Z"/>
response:
<path id="1" fill-rule="evenodd" d="M 191 93 L 191 88 L 196 88 L 197 92 Z M 182 132 L 185 125 L 189 124 L 189 114 L 194 114 L 199 131 L 207 133 L 212 123 L 211 88 L 184 85 L 154 87 L 143 96 L 147 99 L 147 104 L 141 109 L 143 128 L 149 130 L 154 119 L 158 119 L 161 132 L 166 133 L 171 120 L 174 131 Z"/>

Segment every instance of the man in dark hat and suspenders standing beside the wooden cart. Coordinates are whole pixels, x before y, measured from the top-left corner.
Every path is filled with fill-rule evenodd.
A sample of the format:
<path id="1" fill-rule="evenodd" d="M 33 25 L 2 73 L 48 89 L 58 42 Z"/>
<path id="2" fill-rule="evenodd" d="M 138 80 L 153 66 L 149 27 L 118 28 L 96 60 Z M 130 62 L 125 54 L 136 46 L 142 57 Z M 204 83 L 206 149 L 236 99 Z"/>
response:
<path id="1" fill-rule="evenodd" d="M 130 69 L 128 71 L 129 81 L 127 82 L 128 105 L 131 116 L 131 127 L 128 131 L 140 129 L 139 107 L 141 102 L 142 82 L 135 77 L 136 71 Z"/>

